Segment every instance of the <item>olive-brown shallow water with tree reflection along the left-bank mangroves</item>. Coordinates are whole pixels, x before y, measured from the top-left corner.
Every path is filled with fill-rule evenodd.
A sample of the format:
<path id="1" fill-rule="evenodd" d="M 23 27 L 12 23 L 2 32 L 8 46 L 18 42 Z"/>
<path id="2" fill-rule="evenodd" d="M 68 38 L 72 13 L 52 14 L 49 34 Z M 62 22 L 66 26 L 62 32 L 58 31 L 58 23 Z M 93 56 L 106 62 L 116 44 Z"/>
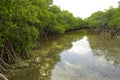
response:
<path id="1" fill-rule="evenodd" d="M 42 42 L 40 42 L 40 45 L 42 47 L 31 51 L 30 59 L 23 60 L 17 64 L 13 64 L 12 65 L 13 69 L 8 71 L 5 75 L 10 80 L 17 80 L 16 79 L 17 77 L 21 76 L 22 78 L 22 76 L 25 76 L 23 74 L 26 73 L 26 71 L 28 71 L 29 69 L 36 71 L 36 73 L 39 73 L 40 70 L 41 72 L 40 74 L 45 75 L 47 73 L 46 71 L 48 69 L 52 69 L 54 64 L 60 60 L 60 57 L 57 54 L 59 54 L 64 49 L 70 48 L 72 45 L 69 42 L 73 41 L 73 39 L 77 40 L 81 38 L 82 35 L 88 35 L 87 31 L 77 30 L 77 31 L 67 32 L 62 35 L 51 36 L 49 38 L 49 41 L 43 40 Z M 16 78 L 14 77 L 15 74 L 17 74 Z M 32 75 L 27 72 L 26 76 L 27 74 Z M 31 78 L 31 80 L 32 79 L 33 78 Z"/>

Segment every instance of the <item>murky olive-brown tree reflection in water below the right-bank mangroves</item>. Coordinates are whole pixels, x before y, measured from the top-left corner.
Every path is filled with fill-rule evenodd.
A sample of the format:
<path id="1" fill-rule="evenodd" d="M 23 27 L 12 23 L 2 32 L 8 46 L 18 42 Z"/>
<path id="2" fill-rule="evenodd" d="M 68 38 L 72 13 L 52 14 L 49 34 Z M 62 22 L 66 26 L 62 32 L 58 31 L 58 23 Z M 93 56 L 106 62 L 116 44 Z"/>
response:
<path id="1" fill-rule="evenodd" d="M 114 66 L 120 64 L 120 41 L 119 39 L 104 39 L 98 36 L 90 37 L 89 42 L 93 49 L 93 54 L 104 56 L 108 62 L 113 62 Z"/>

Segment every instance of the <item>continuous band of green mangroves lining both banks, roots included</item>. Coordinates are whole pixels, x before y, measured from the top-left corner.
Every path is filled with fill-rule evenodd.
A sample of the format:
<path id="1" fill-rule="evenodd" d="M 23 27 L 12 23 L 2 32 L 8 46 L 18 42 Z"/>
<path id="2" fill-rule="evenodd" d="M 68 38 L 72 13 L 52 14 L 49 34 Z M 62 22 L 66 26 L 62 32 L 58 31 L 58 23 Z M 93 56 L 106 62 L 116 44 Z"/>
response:
<path id="1" fill-rule="evenodd" d="M 110 7 L 83 20 L 61 10 L 52 0 L 1 0 L 0 72 L 30 58 L 30 50 L 42 38 L 83 28 L 120 38 L 120 8 Z"/>

